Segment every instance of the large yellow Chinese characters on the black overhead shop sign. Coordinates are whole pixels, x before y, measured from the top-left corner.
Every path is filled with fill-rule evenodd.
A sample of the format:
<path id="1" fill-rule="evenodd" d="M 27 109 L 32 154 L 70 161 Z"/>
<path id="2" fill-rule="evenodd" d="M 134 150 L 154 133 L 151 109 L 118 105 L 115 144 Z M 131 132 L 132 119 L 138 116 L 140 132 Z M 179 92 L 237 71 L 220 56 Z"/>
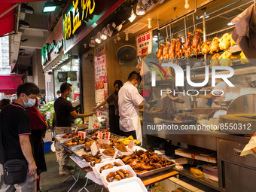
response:
<path id="1" fill-rule="evenodd" d="M 63 28 L 64 38 L 72 38 L 72 35 L 81 26 L 82 21 L 87 19 L 88 14 L 95 10 L 95 0 L 73 0 L 72 11 L 64 14 Z"/>

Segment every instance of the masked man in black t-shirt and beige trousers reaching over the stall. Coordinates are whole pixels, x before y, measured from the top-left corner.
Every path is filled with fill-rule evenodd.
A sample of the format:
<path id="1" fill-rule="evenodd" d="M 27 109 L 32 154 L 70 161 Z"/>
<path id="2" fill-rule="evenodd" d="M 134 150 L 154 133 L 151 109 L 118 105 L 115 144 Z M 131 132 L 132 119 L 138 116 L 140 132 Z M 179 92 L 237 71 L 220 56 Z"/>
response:
<path id="1" fill-rule="evenodd" d="M 54 111 L 56 114 L 55 135 L 72 133 L 71 124 L 73 117 L 84 118 L 94 114 L 77 114 L 72 103 L 67 100 L 67 97 L 72 93 L 71 84 L 63 83 L 60 86 L 60 93 L 61 95 L 54 102 Z M 56 159 L 59 161 L 59 175 L 69 175 L 70 169 L 73 169 L 72 166 L 67 165 L 69 161 L 69 154 L 56 141 L 55 149 Z"/>

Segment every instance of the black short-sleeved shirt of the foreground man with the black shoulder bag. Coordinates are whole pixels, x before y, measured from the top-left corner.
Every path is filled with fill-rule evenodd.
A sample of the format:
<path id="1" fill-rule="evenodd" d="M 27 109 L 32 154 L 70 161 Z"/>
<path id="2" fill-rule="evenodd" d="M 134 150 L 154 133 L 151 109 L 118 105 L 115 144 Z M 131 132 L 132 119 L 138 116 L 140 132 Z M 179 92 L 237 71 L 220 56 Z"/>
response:
<path id="1" fill-rule="evenodd" d="M 0 123 L 6 160 L 26 160 L 19 138 L 19 136 L 30 135 L 30 118 L 26 109 L 17 103 L 6 105 L 0 113 Z"/>

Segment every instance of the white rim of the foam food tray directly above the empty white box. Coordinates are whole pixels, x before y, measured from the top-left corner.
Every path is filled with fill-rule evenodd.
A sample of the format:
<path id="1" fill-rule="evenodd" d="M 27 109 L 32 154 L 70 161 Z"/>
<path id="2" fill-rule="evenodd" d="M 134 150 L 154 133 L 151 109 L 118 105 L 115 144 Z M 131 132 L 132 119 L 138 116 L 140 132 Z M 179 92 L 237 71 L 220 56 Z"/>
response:
<path id="1" fill-rule="evenodd" d="M 120 181 L 126 181 L 128 182 L 130 178 L 123 178 L 122 180 L 120 181 L 112 181 L 112 182 L 108 182 L 107 179 L 106 179 L 106 176 L 108 175 L 108 173 L 110 172 L 116 172 L 120 169 L 123 169 L 123 170 L 128 170 L 130 172 L 130 175 L 133 177 L 136 177 L 136 173 L 133 171 L 132 167 L 129 166 L 129 165 L 125 165 L 125 166 L 116 166 L 116 167 L 113 167 L 111 169 L 105 169 L 102 171 L 102 175 L 100 175 L 100 178 L 102 178 L 102 182 L 103 184 L 105 185 L 105 187 L 108 187 L 109 184 L 114 184 L 114 183 L 117 183 L 117 182 L 120 182 Z M 122 190 L 120 190 L 122 191 Z"/>

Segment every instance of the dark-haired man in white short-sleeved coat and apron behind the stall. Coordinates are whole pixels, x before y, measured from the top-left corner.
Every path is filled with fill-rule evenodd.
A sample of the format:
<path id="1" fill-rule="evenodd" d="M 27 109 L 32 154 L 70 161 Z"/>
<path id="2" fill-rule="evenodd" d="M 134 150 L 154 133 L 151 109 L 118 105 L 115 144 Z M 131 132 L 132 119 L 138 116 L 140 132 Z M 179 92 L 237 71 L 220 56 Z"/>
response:
<path id="1" fill-rule="evenodd" d="M 118 108 L 120 116 L 121 136 L 133 136 L 142 142 L 142 128 L 139 120 L 139 108 L 143 107 L 143 97 L 139 94 L 138 84 L 141 75 L 131 72 L 128 81 L 118 92 Z"/>

